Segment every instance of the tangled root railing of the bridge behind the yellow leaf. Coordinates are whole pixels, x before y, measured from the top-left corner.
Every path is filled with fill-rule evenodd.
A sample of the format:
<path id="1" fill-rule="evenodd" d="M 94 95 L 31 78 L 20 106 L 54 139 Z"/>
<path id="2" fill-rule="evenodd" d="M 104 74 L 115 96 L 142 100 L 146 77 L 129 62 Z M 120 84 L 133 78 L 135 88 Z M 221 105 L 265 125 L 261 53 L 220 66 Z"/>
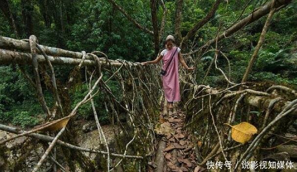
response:
<path id="1" fill-rule="evenodd" d="M 295 90 L 291 88 L 272 86 L 265 92 L 252 89 L 234 90 L 240 85 L 217 90 L 210 86 L 197 86 L 185 81 L 183 84 L 187 89 L 184 95 L 188 98 L 185 99 L 187 100 L 185 108 L 200 109 L 187 111 L 189 116 L 187 119 L 191 119 L 187 126 L 196 133 L 197 140 L 201 142 L 199 154 L 204 157 L 199 163 L 201 166 L 205 165 L 207 161 L 217 158 L 224 158 L 225 161 L 229 160 L 232 164 L 236 164 L 237 161 L 239 163 L 248 161 L 251 157 L 256 158 L 258 156 L 253 156 L 253 152 L 263 140 L 263 136 L 269 134 L 272 126 L 277 127 L 279 121 L 285 116 L 290 116 L 293 121 L 297 119 L 294 115 L 297 113 L 297 96 L 292 97 Z M 272 89 L 283 90 L 283 95 L 278 92 L 275 97 L 275 94 L 268 93 Z M 258 115 L 249 113 L 251 110 L 260 111 L 259 108 L 263 109 L 264 113 L 259 112 Z M 249 122 L 254 125 L 259 134 L 252 138 L 250 144 L 234 146 L 235 141 L 231 138 L 231 130 L 224 127 L 223 123 L 235 125 L 241 122 Z M 282 124 L 281 126 L 286 125 Z"/>

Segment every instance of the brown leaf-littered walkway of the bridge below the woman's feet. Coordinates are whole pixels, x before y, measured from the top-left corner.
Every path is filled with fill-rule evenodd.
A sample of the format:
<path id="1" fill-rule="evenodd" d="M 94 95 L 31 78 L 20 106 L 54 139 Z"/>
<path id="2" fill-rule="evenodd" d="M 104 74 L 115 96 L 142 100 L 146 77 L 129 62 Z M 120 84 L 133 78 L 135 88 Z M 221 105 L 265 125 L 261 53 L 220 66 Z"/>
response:
<path id="1" fill-rule="evenodd" d="M 173 111 L 167 111 L 166 105 L 164 107 L 155 127 L 155 132 L 162 138 L 158 144 L 155 162 L 151 164 L 154 170 L 151 168 L 148 172 L 204 171 L 205 169 L 197 164 L 192 135 L 183 129 L 186 115 L 176 110 L 176 107 Z"/>

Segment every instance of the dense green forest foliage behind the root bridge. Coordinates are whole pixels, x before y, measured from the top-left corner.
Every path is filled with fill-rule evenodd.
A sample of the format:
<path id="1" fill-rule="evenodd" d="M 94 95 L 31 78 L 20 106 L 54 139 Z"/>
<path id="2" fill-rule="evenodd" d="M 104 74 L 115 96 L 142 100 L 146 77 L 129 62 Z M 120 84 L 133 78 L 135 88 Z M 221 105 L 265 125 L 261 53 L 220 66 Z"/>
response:
<path id="1" fill-rule="evenodd" d="M 164 0 L 167 8 L 165 36 L 173 34 L 175 20 L 175 1 Z M 195 23 L 200 21 L 210 10 L 215 0 L 184 0 L 181 22 L 181 34 L 185 36 Z M 118 0 L 136 21 L 147 28 L 152 28 L 151 12 L 147 0 Z M 245 4 L 247 4 L 245 8 Z M 228 28 L 238 18 L 246 17 L 263 0 L 224 1 L 220 4 L 214 18 L 205 24 L 190 40 L 183 53 L 189 51 L 192 43 L 195 48 L 213 39 L 221 25 L 221 30 Z M 153 37 L 136 28 L 124 15 L 107 0 L 1 0 L 0 35 L 27 39 L 34 34 L 39 43 L 73 51 L 102 51 L 110 59 L 124 59 L 141 62 L 155 58 Z M 241 16 L 244 10 L 243 15 Z M 163 10 L 157 5 L 157 18 L 161 21 Z M 13 22 L 12 22 L 13 19 Z M 266 18 L 255 21 L 228 39 L 219 43 L 221 50 L 231 62 L 231 78 L 240 82 L 245 72 L 253 49 L 258 42 Z M 159 23 L 160 24 L 160 23 Z M 15 25 L 15 26 L 14 26 Z M 252 68 L 248 81 L 271 81 L 277 84 L 297 86 L 297 2 L 293 1 L 286 8 L 278 11 L 260 49 L 259 56 Z M 164 36 L 163 36 L 164 37 Z M 161 42 L 164 38 L 161 38 Z M 160 44 L 163 48 L 163 44 Z M 214 56 L 213 52 L 204 55 L 198 64 L 197 82 L 200 83 Z M 197 57 L 195 57 L 197 58 Z M 227 71 L 226 61 L 219 59 L 220 67 Z M 59 82 L 67 80 L 70 68 L 55 66 Z M 81 75 L 83 76 L 83 71 Z M 72 105 L 77 103 L 87 91 L 83 83 L 71 91 Z M 212 69 L 204 84 L 223 86 L 221 73 Z M 116 91 L 117 86 L 110 86 Z M 46 86 L 45 86 L 46 87 Z M 45 98 L 50 103 L 50 91 L 45 91 Z M 101 121 L 108 117 L 100 102 Z M 52 103 L 52 102 L 51 102 Z M 84 105 L 79 110 L 81 118 L 90 118 L 91 106 Z M 34 126 L 42 122 L 42 110 L 34 97 L 34 91 L 25 81 L 17 65 L 0 66 L 0 121 L 11 122 L 23 127 Z"/>

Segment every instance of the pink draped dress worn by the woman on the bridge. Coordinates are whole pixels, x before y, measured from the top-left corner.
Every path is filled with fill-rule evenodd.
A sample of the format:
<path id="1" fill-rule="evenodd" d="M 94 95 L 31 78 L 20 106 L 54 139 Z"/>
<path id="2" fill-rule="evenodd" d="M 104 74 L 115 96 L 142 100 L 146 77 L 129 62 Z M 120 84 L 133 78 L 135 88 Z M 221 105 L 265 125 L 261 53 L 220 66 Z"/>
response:
<path id="1" fill-rule="evenodd" d="M 166 69 L 166 66 L 170 62 L 170 59 L 172 58 L 172 55 L 174 54 L 174 51 L 178 47 L 173 47 L 171 50 L 165 50 L 167 53 L 163 55 L 163 70 Z M 178 79 L 178 50 L 176 50 L 176 53 L 173 56 L 173 60 L 169 64 L 166 74 L 162 75 L 162 82 L 163 82 L 163 88 L 165 92 L 165 98 L 168 102 L 179 102 L 180 101 L 180 92 L 179 92 L 179 79 Z M 163 50 L 164 51 L 164 50 Z M 163 53 L 162 51 L 162 53 Z M 161 55 L 162 55 L 161 53 Z"/>

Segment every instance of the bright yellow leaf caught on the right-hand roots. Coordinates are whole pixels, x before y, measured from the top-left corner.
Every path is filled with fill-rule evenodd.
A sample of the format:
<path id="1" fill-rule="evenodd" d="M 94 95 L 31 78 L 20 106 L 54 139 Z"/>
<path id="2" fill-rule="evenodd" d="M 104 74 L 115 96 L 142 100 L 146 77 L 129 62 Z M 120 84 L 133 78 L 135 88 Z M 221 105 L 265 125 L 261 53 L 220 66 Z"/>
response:
<path id="1" fill-rule="evenodd" d="M 247 122 L 242 122 L 236 126 L 231 126 L 229 124 L 226 124 L 230 126 L 231 129 L 231 137 L 233 140 L 239 143 L 246 143 L 248 142 L 253 134 L 256 134 L 258 132 L 257 128 Z"/>

